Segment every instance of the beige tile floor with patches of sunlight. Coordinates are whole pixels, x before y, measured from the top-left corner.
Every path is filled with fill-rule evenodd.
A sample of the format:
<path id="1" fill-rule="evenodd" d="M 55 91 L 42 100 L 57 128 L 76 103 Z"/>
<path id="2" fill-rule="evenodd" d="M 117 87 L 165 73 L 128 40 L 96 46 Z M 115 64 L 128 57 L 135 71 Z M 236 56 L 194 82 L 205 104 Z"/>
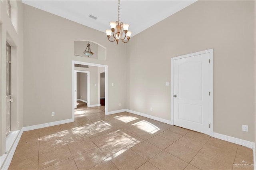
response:
<path id="1" fill-rule="evenodd" d="M 253 169 L 250 164 L 253 152 L 244 146 L 127 112 L 104 115 L 104 107 L 79 102 L 75 122 L 23 132 L 9 170 Z"/>

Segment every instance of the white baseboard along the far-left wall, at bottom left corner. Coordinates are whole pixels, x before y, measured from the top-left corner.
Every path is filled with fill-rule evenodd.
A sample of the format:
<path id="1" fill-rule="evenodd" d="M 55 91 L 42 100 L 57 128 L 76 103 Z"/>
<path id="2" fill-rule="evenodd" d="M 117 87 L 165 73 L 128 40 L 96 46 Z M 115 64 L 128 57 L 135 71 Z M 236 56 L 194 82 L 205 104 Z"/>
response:
<path id="1" fill-rule="evenodd" d="M 0 167 L 1 170 L 8 170 L 8 168 L 9 168 L 11 162 L 12 162 L 12 157 L 13 157 L 14 152 L 15 152 L 17 146 L 18 146 L 18 143 L 20 141 L 20 137 L 22 135 L 23 130 L 21 129 L 21 130 L 18 130 L 18 131 L 19 131 L 18 136 L 14 140 L 12 146 L 10 147 L 10 150 L 7 152 L 7 154 L 2 155 L 1 158 L 0 158 L 1 159 L 1 165 L 2 165 Z"/>

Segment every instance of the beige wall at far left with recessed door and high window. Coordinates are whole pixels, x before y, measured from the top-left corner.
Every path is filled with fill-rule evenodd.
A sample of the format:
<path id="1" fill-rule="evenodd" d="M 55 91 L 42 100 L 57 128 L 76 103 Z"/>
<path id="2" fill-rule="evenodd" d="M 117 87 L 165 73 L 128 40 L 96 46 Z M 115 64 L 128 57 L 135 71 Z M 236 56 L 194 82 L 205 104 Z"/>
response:
<path id="1" fill-rule="evenodd" d="M 12 20 L 6 12 L 6 1 L 0 1 L 0 156 L 6 151 L 6 41 L 12 46 L 11 68 L 11 130 L 23 126 L 23 27 L 22 2 L 11 1 Z M 1 168 L 1 167 L 0 167 Z"/>

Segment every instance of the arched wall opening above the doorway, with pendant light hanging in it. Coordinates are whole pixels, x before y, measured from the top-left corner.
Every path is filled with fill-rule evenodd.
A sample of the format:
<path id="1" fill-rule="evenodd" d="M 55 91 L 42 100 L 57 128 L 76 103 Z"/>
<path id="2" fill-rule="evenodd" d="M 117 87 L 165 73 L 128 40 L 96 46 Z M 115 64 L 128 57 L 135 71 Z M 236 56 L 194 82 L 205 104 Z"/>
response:
<path id="1" fill-rule="evenodd" d="M 74 55 L 88 57 L 84 54 L 88 43 L 90 44 L 91 52 L 93 52 L 93 55 L 91 55 L 90 58 L 106 60 L 106 48 L 90 41 L 74 41 Z M 88 48 L 86 51 L 88 51 Z"/>

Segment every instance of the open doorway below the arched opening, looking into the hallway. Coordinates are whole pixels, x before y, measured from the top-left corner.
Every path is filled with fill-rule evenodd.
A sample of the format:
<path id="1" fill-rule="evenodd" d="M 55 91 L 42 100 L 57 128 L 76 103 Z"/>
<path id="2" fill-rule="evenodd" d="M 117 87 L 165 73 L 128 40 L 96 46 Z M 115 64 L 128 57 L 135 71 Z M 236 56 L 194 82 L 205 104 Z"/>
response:
<path id="1" fill-rule="evenodd" d="M 102 87 L 100 85 L 100 73 L 103 72 L 105 101 L 104 106 L 101 106 L 100 92 L 102 92 L 103 90 L 100 90 L 100 87 Z M 87 75 L 86 85 L 85 83 L 81 84 L 80 77 L 82 74 Z M 81 89 L 81 85 L 83 87 L 86 86 L 86 100 L 84 100 L 83 95 L 81 95 L 81 91 L 79 91 L 78 95 L 78 77 L 80 79 L 79 89 Z M 82 99 L 78 100 L 78 98 Z M 95 63 L 86 63 L 82 61 L 72 61 L 72 101 L 72 119 L 75 118 L 74 110 L 76 109 L 77 104 L 81 105 L 83 103 L 86 103 L 86 107 L 103 107 L 105 114 L 108 113 L 108 66 Z"/>

